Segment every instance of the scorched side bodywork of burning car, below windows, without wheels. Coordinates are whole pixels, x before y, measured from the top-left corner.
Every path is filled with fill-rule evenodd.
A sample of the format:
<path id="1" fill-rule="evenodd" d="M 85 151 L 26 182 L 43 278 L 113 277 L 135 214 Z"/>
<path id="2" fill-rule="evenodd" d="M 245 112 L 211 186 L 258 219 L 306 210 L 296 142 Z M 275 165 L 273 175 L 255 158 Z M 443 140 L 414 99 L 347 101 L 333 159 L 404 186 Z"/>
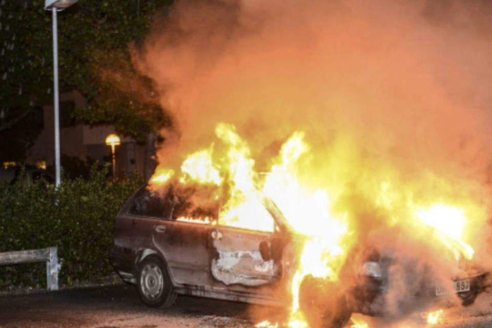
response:
<path id="1" fill-rule="evenodd" d="M 259 251 L 260 243 L 274 233 L 129 214 L 133 201 L 129 199 L 116 218 L 111 252 L 111 262 L 125 281 L 135 283 L 140 256 L 156 252 L 166 260 L 179 294 L 258 303 L 288 299 L 282 278 L 285 263 L 263 260 Z M 217 230 L 223 234 L 221 241 L 212 238 Z M 239 256 L 239 265 L 231 271 L 234 256 Z"/>

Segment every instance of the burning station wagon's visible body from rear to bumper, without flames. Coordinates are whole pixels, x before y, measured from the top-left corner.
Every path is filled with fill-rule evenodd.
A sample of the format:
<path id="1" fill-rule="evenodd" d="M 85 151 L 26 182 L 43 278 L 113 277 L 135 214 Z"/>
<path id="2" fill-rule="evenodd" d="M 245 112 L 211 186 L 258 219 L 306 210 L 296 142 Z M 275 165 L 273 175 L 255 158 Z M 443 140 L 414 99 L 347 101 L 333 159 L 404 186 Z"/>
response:
<path id="1" fill-rule="evenodd" d="M 181 218 L 185 199 L 142 187 L 116 217 L 111 263 L 153 307 L 172 305 L 178 294 L 288 306 L 303 239 L 271 199 L 264 197 L 262 203 L 271 215 L 271 232 L 223 226 L 213 213 Z M 352 313 L 384 315 L 392 265 L 391 257 L 379 250 L 356 248 L 340 281 L 304 277 L 300 310 L 315 328 L 342 327 Z M 446 294 L 432 277 L 419 279 L 418 297 Z M 487 273 L 479 269 L 466 268 L 453 279 L 464 305 L 473 303 L 487 284 Z"/>

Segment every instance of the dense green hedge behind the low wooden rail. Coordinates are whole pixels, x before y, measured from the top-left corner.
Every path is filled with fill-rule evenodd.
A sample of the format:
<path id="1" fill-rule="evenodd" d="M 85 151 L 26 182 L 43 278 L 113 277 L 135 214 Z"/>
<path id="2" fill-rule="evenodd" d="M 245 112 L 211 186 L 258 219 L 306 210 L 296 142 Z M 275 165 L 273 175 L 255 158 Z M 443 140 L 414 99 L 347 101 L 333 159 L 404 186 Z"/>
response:
<path id="1" fill-rule="evenodd" d="M 89 179 L 65 179 L 58 189 L 43 181 L 1 185 L 0 252 L 57 247 L 61 284 L 110 275 L 114 218 L 144 181 L 132 175 L 113 183 L 107 173 L 93 167 Z M 0 267 L 0 290 L 44 287 L 45 270 L 44 263 Z"/>

